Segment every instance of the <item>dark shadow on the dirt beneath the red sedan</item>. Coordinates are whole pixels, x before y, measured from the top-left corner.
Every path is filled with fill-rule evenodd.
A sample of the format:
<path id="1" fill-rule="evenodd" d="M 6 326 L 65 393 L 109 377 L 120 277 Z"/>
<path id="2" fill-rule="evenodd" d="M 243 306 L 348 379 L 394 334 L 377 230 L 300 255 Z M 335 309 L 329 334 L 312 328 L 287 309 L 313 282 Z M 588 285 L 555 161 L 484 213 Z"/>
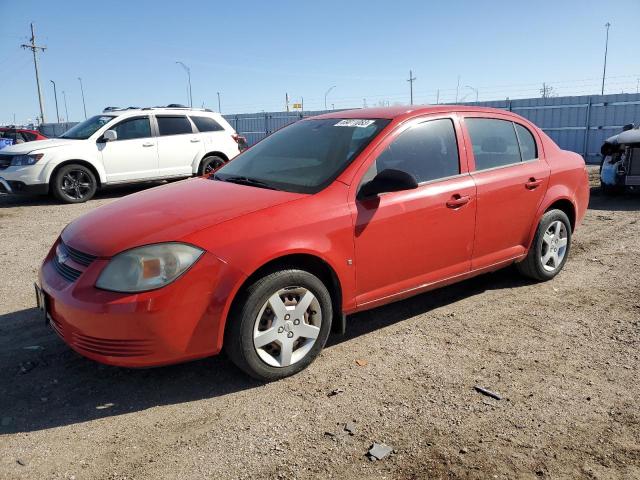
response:
<path id="1" fill-rule="evenodd" d="M 526 284 L 506 269 L 352 315 L 346 334 L 332 335 L 327 348 L 489 288 Z M 140 370 L 98 364 L 69 349 L 35 308 L 0 315 L 0 372 L 0 434 L 49 429 L 262 385 L 224 355 Z"/>

